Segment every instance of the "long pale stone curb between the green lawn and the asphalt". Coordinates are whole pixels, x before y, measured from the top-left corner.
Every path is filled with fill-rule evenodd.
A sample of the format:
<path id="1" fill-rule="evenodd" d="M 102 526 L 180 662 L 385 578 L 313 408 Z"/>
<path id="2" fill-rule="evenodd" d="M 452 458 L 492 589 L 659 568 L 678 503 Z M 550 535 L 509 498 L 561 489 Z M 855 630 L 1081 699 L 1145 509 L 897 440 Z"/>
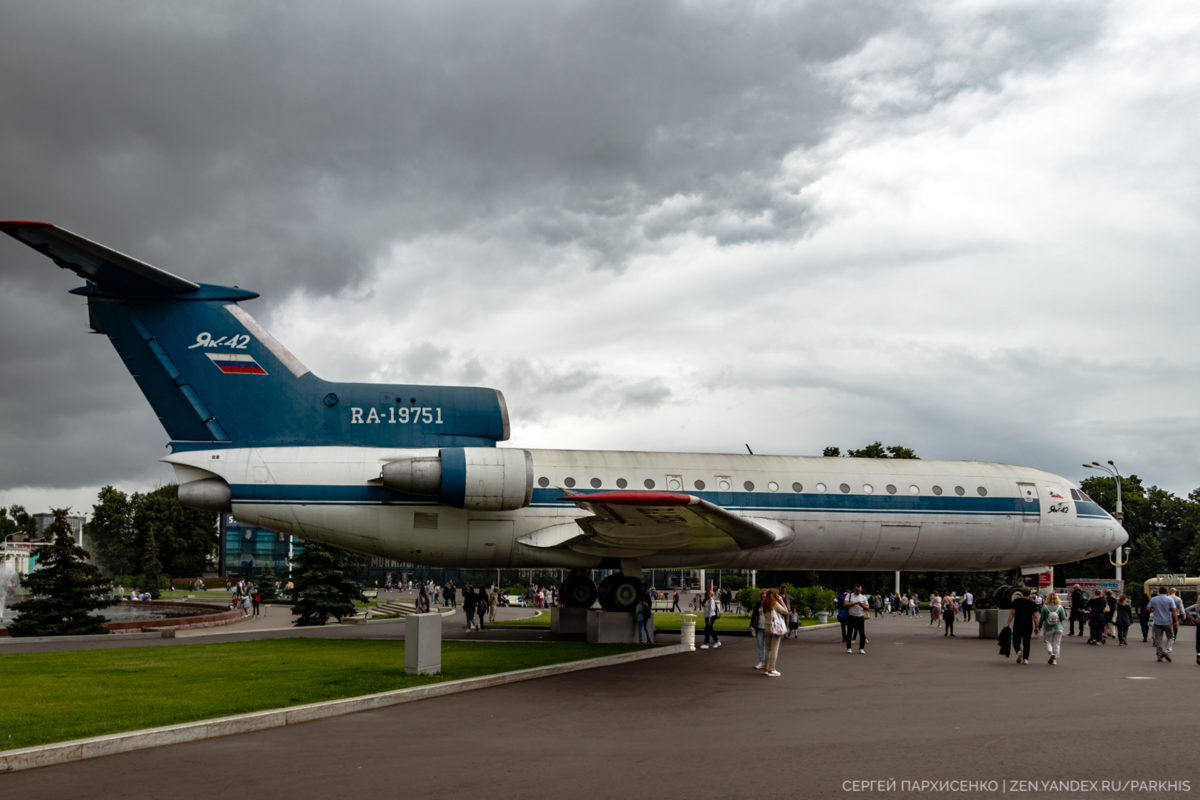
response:
<path id="1" fill-rule="evenodd" d="M 78 762 L 85 758 L 100 758 L 101 756 L 113 756 L 126 753 L 133 750 L 146 747 L 160 747 L 162 745 L 178 745 L 200 739 L 214 739 L 216 736 L 230 736 L 239 733 L 251 733 L 253 730 L 265 730 L 268 728 L 282 728 L 300 722 L 311 722 L 325 717 L 354 714 L 355 711 L 367 711 L 382 709 L 401 703 L 425 700 L 432 697 L 445 694 L 457 694 L 470 692 L 476 688 L 490 688 L 492 686 L 504 686 L 535 678 L 550 678 L 583 669 L 595 669 L 596 667 L 610 667 L 631 661 L 643 661 L 659 656 L 670 656 L 677 652 L 691 652 L 690 645 L 674 644 L 655 648 L 653 650 L 634 650 L 622 652 L 616 656 L 601 656 L 599 658 L 586 658 L 583 661 L 570 661 L 550 667 L 534 667 L 533 669 L 518 669 L 504 672 L 496 675 L 480 675 L 479 678 L 464 678 L 462 680 L 450 680 L 442 684 L 428 684 L 425 686 L 413 686 L 409 688 L 397 688 L 390 692 L 377 694 L 364 694 L 362 697 L 347 697 L 340 700 L 324 700 L 322 703 L 308 703 L 306 705 L 292 705 L 286 709 L 271 709 L 268 711 L 252 711 L 250 714 L 238 714 L 215 720 L 202 720 L 199 722 L 184 722 L 180 724 L 163 726 L 161 728 L 145 728 L 143 730 L 128 730 L 126 733 L 114 733 L 104 736 L 91 736 L 89 739 L 74 739 L 72 741 L 59 741 L 50 745 L 35 745 L 19 750 L 0 751 L 0 772 L 16 772 L 17 770 L 35 769 L 38 766 L 50 766 L 53 764 L 65 764 Z"/>

